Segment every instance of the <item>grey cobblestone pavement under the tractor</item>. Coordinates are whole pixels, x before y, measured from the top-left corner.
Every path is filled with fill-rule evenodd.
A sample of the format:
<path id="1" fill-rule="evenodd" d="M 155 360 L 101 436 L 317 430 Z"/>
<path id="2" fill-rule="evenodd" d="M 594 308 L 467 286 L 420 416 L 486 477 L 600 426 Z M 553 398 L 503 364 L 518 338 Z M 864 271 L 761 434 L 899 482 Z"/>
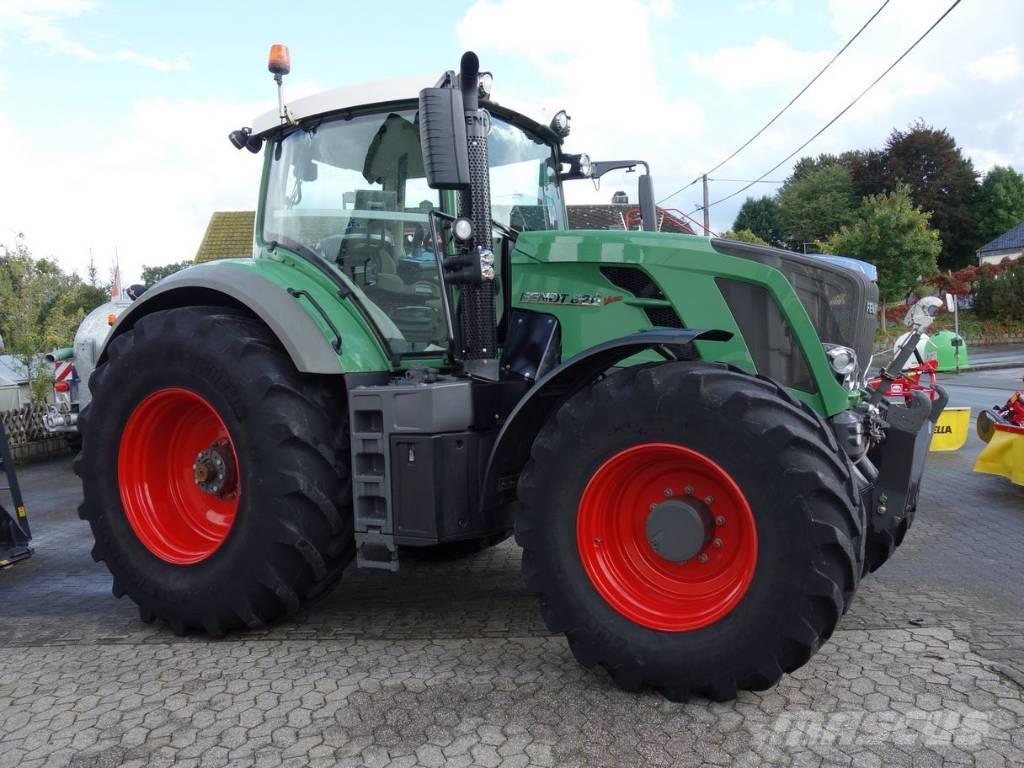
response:
<path id="1" fill-rule="evenodd" d="M 0 768 L 1024 764 L 1024 489 L 929 461 L 918 522 L 774 689 L 671 703 L 552 637 L 506 543 L 351 570 L 221 641 L 141 624 L 89 558 L 70 461 L 26 468 L 35 557 L 0 573 Z"/>

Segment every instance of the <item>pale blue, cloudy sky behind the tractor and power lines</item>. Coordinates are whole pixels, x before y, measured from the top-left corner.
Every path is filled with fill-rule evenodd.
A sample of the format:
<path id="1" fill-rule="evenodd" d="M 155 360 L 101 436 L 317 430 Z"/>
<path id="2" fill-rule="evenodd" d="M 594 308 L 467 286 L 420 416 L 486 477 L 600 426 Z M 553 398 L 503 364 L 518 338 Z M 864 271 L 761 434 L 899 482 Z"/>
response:
<path id="1" fill-rule="evenodd" d="M 768 131 L 712 174 L 711 200 L 815 133 L 952 0 L 890 0 Z M 566 151 L 643 159 L 662 199 L 742 144 L 882 0 L 302 0 L 284 4 L 0 0 L 0 244 L 125 282 L 190 259 L 210 214 L 253 209 L 260 159 L 227 133 L 275 104 L 271 43 L 291 49 L 286 98 L 373 80 L 431 85 L 466 49 L 494 94 L 572 117 Z M 1024 169 L 1024 0 L 963 0 L 803 155 L 880 146 L 916 120 L 976 168 Z M 798 155 L 798 158 L 800 156 Z M 782 179 L 786 164 L 769 176 Z M 569 203 L 636 199 L 635 177 L 567 187 Z M 711 209 L 732 225 L 757 184 Z M 691 212 L 700 185 L 665 203 Z M 699 217 L 699 213 L 694 214 Z"/>

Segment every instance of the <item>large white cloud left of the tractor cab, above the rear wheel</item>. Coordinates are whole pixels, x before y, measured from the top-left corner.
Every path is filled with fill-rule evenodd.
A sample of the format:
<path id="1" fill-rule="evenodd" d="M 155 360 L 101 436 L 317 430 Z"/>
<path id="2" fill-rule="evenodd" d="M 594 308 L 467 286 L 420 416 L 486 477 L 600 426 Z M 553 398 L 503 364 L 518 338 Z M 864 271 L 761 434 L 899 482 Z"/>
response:
<path id="1" fill-rule="evenodd" d="M 287 95 L 319 90 L 296 81 Z M 272 88 L 266 96 L 146 98 L 116 117 L 71 115 L 75 140 L 57 144 L 35 141 L 31 117 L 0 111 L 4 178 L 16 180 L 0 184 L 0 243 L 25 232 L 37 255 L 80 274 L 90 249 L 105 274 L 116 249 L 125 282 L 143 264 L 191 259 L 214 211 L 256 206 L 263 159 L 227 134 L 275 109 Z"/>

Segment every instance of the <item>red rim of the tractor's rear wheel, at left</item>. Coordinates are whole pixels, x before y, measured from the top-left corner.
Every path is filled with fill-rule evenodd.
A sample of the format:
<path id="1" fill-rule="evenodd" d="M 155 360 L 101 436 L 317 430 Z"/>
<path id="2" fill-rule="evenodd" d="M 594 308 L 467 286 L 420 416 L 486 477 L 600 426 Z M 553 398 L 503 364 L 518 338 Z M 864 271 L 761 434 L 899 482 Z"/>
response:
<path id="1" fill-rule="evenodd" d="M 222 478 L 209 481 L 223 480 L 216 493 L 197 479 L 197 465 L 208 461 L 211 449 L 227 468 Z M 223 420 L 187 389 L 148 395 L 121 434 L 118 480 L 125 516 L 150 552 L 176 565 L 207 559 L 227 539 L 239 511 L 239 470 Z"/>

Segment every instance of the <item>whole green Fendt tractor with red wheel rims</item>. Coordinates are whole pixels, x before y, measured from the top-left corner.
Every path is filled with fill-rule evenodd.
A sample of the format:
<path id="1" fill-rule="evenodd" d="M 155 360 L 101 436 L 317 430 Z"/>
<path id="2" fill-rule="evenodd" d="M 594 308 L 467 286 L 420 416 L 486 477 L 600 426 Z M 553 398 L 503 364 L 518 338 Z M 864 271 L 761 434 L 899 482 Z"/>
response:
<path id="1" fill-rule="evenodd" d="M 858 272 L 743 243 L 566 228 L 563 150 L 467 53 L 433 87 L 281 98 L 254 255 L 112 330 L 81 515 L 143 621 L 222 636 L 410 548 L 514 532 L 577 658 L 726 699 L 805 664 L 901 540 L 935 409 L 864 387 Z M 422 85 L 422 84 L 421 84 Z M 938 408 L 941 408 L 938 407 Z M 93 416 L 95 414 L 95 416 Z"/>

